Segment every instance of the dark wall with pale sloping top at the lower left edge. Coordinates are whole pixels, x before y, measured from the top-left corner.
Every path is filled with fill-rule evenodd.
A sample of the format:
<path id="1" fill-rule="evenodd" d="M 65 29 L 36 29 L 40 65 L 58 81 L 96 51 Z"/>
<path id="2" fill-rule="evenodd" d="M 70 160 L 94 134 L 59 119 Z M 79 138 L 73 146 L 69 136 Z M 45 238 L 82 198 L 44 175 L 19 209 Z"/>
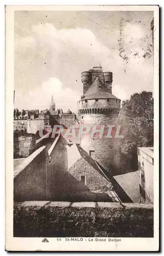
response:
<path id="1" fill-rule="evenodd" d="M 14 201 L 45 200 L 48 154 L 45 146 L 40 147 L 14 171 Z"/>

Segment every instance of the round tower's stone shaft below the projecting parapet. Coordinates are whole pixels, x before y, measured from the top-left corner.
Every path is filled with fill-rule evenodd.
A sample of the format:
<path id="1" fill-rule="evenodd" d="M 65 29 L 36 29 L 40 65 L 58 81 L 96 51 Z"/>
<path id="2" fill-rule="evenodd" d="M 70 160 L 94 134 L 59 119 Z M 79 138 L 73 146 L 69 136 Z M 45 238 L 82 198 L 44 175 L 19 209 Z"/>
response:
<path id="1" fill-rule="evenodd" d="M 82 124 L 90 124 L 90 129 L 94 124 L 97 125 L 97 129 L 101 128 L 101 125 L 114 125 L 116 115 L 114 114 L 88 114 L 82 115 Z M 104 134 L 107 134 L 108 129 L 104 130 Z M 113 133 L 115 135 L 115 132 Z M 98 134 L 99 135 L 99 134 Z M 116 145 L 118 145 L 118 138 L 105 138 L 102 136 L 91 137 L 91 132 L 81 136 L 81 147 L 89 154 L 89 151 L 95 150 L 94 159 L 98 161 L 106 170 L 111 170 L 113 164 L 119 161 L 120 154 L 115 151 Z"/>

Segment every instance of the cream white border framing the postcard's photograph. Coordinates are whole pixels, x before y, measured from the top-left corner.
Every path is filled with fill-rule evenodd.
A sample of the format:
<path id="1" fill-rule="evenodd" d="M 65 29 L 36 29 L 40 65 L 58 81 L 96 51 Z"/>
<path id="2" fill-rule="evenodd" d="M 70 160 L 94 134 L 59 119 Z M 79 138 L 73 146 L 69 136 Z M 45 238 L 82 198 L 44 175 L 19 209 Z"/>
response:
<path id="1" fill-rule="evenodd" d="M 154 238 L 116 238 L 121 242 L 66 242 L 65 238 L 13 237 L 13 91 L 14 11 L 101 10 L 154 11 Z M 159 247 L 159 8 L 158 6 L 6 6 L 6 250 L 14 251 L 156 251 Z M 79 238 L 80 239 L 80 238 Z M 112 238 L 114 239 L 114 238 Z M 87 241 L 85 241 L 87 240 Z"/>

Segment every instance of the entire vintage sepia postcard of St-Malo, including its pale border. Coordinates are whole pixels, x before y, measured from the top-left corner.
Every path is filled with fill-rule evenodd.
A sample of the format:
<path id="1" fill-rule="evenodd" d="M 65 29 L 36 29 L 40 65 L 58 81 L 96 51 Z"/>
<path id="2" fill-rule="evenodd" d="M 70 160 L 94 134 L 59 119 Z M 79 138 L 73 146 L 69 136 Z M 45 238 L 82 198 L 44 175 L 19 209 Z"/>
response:
<path id="1" fill-rule="evenodd" d="M 6 6 L 6 250 L 159 249 L 158 15 Z"/>

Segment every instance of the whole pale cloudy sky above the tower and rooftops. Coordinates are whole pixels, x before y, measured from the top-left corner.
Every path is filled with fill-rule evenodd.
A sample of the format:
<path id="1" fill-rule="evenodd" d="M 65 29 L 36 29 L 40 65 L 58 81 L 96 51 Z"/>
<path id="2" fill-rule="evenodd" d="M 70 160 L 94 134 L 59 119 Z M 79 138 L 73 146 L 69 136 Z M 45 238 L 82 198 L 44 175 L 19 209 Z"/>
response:
<path id="1" fill-rule="evenodd" d="M 121 100 L 153 91 L 153 12 L 15 11 L 15 108 L 77 112 L 81 72 L 113 72 Z M 121 30 L 121 33 L 120 33 Z M 123 51 L 122 51 L 123 50 Z"/>

